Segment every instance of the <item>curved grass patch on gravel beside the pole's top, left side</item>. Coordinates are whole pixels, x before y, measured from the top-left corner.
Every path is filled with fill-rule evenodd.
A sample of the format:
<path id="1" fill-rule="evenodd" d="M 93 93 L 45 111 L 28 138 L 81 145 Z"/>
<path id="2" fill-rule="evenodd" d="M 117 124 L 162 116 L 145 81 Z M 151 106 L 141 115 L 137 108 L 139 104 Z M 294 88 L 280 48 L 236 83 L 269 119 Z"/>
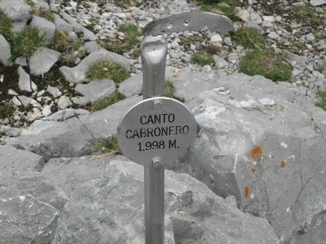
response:
<path id="1" fill-rule="evenodd" d="M 140 43 L 138 37 L 141 36 L 142 33 L 138 31 L 138 26 L 133 24 L 120 25 L 118 27 L 118 31 L 126 34 L 124 40 L 120 40 L 120 39 L 110 39 L 108 41 L 100 40 L 98 41 L 98 44 L 100 44 L 103 48 L 109 51 L 122 54 L 126 51 L 129 51 L 135 45 Z"/>

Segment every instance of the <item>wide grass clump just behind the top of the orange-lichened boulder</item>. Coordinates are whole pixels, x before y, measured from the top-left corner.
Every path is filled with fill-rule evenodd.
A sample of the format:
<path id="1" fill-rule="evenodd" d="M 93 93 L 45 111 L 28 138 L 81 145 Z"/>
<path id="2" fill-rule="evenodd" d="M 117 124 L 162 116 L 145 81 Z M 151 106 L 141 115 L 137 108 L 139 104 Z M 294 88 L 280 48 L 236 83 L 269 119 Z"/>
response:
<path id="1" fill-rule="evenodd" d="M 262 75 L 273 81 L 291 82 L 291 67 L 283 63 L 283 57 L 271 51 L 255 50 L 240 60 L 240 70 L 247 75 Z"/>

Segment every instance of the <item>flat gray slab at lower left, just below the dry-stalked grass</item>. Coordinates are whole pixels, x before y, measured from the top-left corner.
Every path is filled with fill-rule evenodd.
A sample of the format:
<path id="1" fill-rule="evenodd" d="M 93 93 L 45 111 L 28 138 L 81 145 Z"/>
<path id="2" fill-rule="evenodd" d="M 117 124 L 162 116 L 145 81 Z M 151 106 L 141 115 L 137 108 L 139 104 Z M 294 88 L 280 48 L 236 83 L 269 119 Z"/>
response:
<path id="1" fill-rule="evenodd" d="M 86 181 L 101 176 L 113 159 L 126 160 L 122 155 L 101 154 L 77 158 L 57 158 L 49 160 L 42 170 L 42 174 L 51 179 L 70 198 L 74 191 Z"/>

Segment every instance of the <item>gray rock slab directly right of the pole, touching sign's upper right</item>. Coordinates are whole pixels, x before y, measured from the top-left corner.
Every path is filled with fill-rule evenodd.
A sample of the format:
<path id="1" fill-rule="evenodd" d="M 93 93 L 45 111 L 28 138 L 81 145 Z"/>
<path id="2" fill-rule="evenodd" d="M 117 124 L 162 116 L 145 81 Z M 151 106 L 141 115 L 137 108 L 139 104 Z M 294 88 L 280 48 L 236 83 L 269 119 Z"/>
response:
<path id="1" fill-rule="evenodd" d="M 166 80 L 172 81 L 175 86 L 173 95 L 185 102 L 192 100 L 206 89 L 215 88 L 218 78 L 218 75 L 207 72 L 189 72 L 186 70 L 177 73 L 166 72 Z"/>

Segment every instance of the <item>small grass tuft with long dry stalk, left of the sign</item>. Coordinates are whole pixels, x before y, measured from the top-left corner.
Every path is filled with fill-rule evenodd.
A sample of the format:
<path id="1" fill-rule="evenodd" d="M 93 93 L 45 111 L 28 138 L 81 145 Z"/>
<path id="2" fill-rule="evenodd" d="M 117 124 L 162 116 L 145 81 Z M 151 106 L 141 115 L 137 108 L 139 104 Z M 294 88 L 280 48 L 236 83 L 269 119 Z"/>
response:
<path id="1" fill-rule="evenodd" d="M 84 128 L 88 131 L 88 133 L 93 137 L 95 141 L 95 145 L 92 143 L 87 142 L 91 146 L 94 146 L 99 149 L 99 153 L 102 155 L 96 156 L 91 158 L 90 160 L 98 159 L 98 158 L 103 158 L 107 155 L 112 155 L 112 154 L 122 154 L 121 149 L 119 148 L 118 144 L 118 139 L 116 136 L 112 136 L 111 140 L 105 140 L 105 145 L 102 145 L 95 137 L 94 135 L 90 132 L 90 130 L 83 124 L 83 122 L 80 120 L 78 114 L 74 111 L 75 117 L 79 120 L 80 124 L 84 126 Z"/>

